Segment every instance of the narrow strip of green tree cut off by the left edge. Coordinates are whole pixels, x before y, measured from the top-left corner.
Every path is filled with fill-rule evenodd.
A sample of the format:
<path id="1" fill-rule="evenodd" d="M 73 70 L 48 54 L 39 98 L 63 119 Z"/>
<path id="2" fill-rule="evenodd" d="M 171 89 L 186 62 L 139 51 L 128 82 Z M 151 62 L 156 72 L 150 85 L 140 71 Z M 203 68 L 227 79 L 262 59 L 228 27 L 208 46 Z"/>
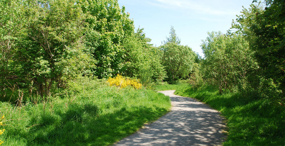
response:
<path id="1" fill-rule="evenodd" d="M 16 77 L 11 64 L 15 61 L 16 42 L 21 39 L 20 32 L 25 24 L 23 8 L 18 0 L 0 1 L 0 97 L 6 95 L 7 81 Z"/>

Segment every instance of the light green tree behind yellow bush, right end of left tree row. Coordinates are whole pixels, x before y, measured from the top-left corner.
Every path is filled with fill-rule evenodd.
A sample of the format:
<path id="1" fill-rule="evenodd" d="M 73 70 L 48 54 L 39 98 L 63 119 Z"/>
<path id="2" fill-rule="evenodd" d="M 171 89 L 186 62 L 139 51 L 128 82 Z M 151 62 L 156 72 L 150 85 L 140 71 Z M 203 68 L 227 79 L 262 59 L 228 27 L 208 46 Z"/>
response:
<path id="1" fill-rule="evenodd" d="M 161 82 L 166 77 L 161 62 L 162 52 L 149 42 L 143 28 L 138 28 L 136 33 L 124 39 L 127 64 L 124 73 L 126 76 L 140 78 L 145 87 L 152 82 Z"/>

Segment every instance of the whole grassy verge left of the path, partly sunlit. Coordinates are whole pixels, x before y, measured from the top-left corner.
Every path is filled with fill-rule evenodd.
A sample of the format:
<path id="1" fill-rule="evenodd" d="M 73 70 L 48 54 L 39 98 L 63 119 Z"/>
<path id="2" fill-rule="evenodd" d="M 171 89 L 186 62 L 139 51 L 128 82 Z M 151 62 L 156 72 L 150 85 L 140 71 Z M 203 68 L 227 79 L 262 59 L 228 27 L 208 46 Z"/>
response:
<path id="1" fill-rule="evenodd" d="M 62 94 L 64 98 L 29 101 L 16 108 L 0 102 L 0 115 L 5 115 L 2 145 L 111 145 L 171 107 L 169 97 L 161 93 L 116 90 L 105 81 L 82 79 Z"/>

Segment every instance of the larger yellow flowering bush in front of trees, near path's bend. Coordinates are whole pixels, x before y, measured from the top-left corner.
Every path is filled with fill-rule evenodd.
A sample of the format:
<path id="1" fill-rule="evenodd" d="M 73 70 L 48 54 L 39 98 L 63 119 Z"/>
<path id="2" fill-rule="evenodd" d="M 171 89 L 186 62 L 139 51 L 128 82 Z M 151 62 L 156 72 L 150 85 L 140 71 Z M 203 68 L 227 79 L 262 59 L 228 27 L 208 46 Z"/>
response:
<path id="1" fill-rule="evenodd" d="M 117 74 L 116 77 L 111 78 L 109 77 L 108 81 L 110 83 L 110 86 L 116 86 L 118 89 L 127 87 L 128 85 L 134 87 L 135 89 L 141 89 L 142 84 L 137 79 L 128 79 L 123 77 L 120 74 Z"/>

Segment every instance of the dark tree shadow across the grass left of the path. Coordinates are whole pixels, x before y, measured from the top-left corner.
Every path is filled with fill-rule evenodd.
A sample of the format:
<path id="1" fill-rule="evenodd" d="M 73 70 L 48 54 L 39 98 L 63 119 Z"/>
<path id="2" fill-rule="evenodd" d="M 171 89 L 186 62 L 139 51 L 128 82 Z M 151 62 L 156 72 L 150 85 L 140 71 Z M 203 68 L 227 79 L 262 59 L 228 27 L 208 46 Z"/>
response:
<path id="1" fill-rule="evenodd" d="M 29 145 L 111 145 L 136 132 L 144 123 L 165 114 L 154 106 L 120 107 L 98 114 L 95 105 L 74 105 L 66 112 L 42 115 L 39 125 L 29 130 Z M 58 123 L 61 122 L 61 123 Z"/>

